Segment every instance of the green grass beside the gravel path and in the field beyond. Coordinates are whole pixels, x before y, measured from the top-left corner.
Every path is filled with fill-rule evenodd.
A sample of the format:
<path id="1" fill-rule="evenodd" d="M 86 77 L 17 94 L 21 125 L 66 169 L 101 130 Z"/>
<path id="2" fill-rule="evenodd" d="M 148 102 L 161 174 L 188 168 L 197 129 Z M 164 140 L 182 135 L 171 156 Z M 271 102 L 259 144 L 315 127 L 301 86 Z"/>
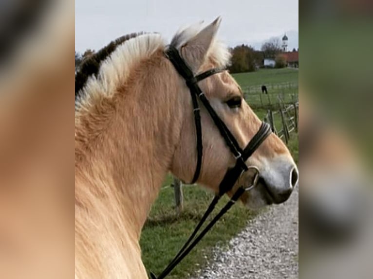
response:
<path id="1" fill-rule="evenodd" d="M 287 81 L 297 81 L 298 83 L 298 71 L 288 69 L 260 70 L 255 73 L 235 74 L 234 77 L 242 87 L 258 86 L 263 83 L 263 80 L 267 84 L 269 82 L 282 84 Z M 248 103 L 250 104 L 250 100 L 248 100 Z M 266 114 L 265 109 L 255 109 L 255 112 L 261 119 Z M 298 162 L 298 135 L 292 134 L 288 147 Z M 211 192 L 201 187 L 184 187 L 184 211 L 177 215 L 174 208 L 173 188 L 167 187 L 171 184 L 171 181 L 172 177 L 168 175 L 163 185 L 166 188 L 163 188 L 159 193 L 140 240 L 143 262 L 148 272 L 152 271 L 156 275 L 166 267 L 184 244 L 213 198 Z M 227 200 L 226 197 L 222 199 L 217 208 L 220 209 Z M 260 212 L 250 211 L 242 204 L 237 203 L 174 269 L 169 278 L 187 279 L 196 270 L 202 269 L 216 244 L 224 246 L 246 226 L 250 218 L 260 214 Z"/>

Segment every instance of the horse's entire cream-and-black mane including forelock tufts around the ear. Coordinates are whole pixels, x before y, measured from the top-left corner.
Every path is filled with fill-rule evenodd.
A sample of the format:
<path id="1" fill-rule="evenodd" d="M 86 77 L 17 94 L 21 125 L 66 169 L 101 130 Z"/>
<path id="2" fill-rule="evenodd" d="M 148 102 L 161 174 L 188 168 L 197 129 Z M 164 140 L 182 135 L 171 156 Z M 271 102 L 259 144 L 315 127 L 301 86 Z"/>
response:
<path id="1" fill-rule="evenodd" d="M 170 45 L 181 49 L 202 28 L 202 22 L 179 30 Z M 112 97 L 117 88 L 126 82 L 131 68 L 141 59 L 165 48 L 161 35 L 132 33 L 122 36 L 83 61 L 75 74 L 75 110 L 87 111 L 94 99 Z M 231 54 L 216 38 L 206 55 L 217 67 L 226 67 Z"/>

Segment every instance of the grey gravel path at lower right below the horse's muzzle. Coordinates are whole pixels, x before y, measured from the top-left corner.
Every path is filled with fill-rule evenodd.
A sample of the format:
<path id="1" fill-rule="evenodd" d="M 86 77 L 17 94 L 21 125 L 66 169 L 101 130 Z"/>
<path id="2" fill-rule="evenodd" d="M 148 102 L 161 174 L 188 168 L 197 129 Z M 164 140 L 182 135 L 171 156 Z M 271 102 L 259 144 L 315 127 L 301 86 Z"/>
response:
<path id="1" fill-rule="evenodd" d="M 298 278 L 298 187 L 287 202 L 251 220 L 229 242 L 217 247 L 198 279 Z"/>

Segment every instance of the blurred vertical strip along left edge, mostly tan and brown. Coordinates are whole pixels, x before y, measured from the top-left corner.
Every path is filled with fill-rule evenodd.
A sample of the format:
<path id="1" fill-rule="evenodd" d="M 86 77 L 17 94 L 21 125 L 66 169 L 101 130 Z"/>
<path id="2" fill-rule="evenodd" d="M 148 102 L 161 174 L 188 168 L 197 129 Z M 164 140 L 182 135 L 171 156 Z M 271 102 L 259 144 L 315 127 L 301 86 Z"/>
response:
<path id="1" fill-rule="evenodd" d="M 0 278 L 74 278 L 74 1 L 0 6 Z"/>

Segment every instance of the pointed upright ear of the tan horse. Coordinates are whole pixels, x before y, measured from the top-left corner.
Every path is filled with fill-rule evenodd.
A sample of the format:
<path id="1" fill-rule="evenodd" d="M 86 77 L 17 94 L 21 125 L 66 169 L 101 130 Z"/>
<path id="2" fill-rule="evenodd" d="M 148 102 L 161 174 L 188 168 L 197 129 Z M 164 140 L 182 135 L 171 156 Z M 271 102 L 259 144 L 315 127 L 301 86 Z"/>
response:
<path id="1" fill-rule="evenodd" d="M 221 21 L 222 18 L 217 17 L 212 23 L 202 29 L 181 47 L 180 53 L 193 72 L 197 72 L 204 62 L 207 51 L 215 39 Z"/>

